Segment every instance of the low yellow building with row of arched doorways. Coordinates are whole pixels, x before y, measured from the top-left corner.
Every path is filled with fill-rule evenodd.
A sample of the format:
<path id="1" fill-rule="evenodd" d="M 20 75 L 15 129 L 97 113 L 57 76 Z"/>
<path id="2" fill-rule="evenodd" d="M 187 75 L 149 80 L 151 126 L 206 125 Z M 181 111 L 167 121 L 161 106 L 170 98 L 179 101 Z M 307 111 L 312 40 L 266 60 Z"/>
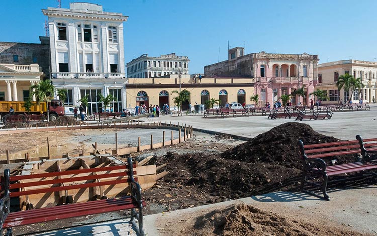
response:
<path id="1" fill-rule="evenodd" d="M 173 109 L 173 98 L 177 94 L 172 91 L 187 89 L 190 91 L 190 103 L 182 104 L 182 110 L 187 110 L 189 104 L 205 104 L 211 98 L 220 99 L 226 103 L 249 104 L 250 96 L 254 94 L 254 79 L 252 78 L 202 78 L 197 83 L 189 75 L 170 75 L 170 78 L 129 78 L 127 84 L 127 107 L 134 108 L 145 104 L 163 106 L 168 103 Z"/>

